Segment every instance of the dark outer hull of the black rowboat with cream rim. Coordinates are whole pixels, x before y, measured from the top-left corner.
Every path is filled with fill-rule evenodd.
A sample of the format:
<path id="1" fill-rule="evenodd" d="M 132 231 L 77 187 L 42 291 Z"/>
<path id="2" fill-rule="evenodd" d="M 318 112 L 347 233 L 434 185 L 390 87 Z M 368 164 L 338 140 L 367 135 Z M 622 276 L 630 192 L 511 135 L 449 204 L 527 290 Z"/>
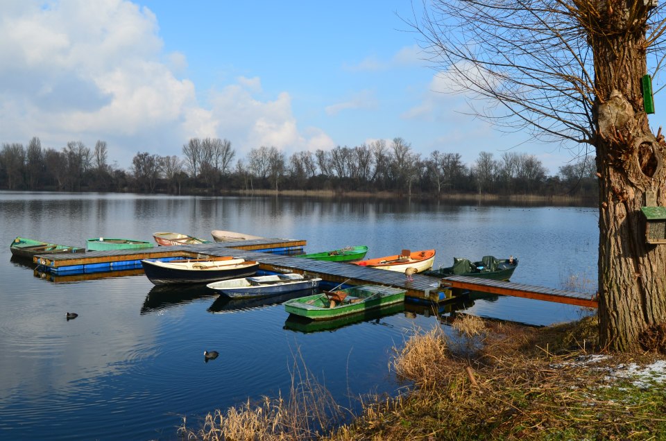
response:
<path id="1" fill-rule="evenodd" d="M 257 268 L 259 268 L 259 263 L 255 261 L 218 265 L 201 270 L 196 268 L 173 268 L 160 265 L 160 263 L 164 262 L 151 259 L 141 261 L 146 277 L 155 285 L 200 284 L 233 279 L 234 277 L 248 277 L 257 273 Z"/>

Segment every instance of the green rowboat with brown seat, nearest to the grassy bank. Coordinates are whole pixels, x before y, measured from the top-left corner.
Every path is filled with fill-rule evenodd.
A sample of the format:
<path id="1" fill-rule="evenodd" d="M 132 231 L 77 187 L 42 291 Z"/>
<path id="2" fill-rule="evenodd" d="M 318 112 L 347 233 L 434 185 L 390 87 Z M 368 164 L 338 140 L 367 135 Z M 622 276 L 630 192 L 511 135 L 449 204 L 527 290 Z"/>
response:
<path id="1" fill-rule="evenodd" d="M 284 309 L 288 313 L 311 320 L 332 320 L 404 302 L 404 293 L 404 289 L 390 286 L 352 286 L 288 300 L 284 302 Z"/>

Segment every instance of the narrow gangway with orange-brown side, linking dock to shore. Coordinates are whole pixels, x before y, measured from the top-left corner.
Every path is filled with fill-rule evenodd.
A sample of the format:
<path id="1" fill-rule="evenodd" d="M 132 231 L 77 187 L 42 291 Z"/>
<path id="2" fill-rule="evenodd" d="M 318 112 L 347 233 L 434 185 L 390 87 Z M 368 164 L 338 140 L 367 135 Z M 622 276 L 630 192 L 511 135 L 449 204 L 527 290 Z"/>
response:
<path id="1" fill-rule="evenodd" d="M 597 308 L 599 306 L 595 295 L 589 293 L 577 293 L 575 291 L 564 291 L 555 288 L 545 288 L 543 286 L 502 282 L 491 279 L 479 279 L 479 277 L 469 276 L 445 277 L 441 282 L 444 286 L 450 288 L 459 288 L 469 291 L 511 295 L 513 297 L 586 306 L 588 308 Z"/>

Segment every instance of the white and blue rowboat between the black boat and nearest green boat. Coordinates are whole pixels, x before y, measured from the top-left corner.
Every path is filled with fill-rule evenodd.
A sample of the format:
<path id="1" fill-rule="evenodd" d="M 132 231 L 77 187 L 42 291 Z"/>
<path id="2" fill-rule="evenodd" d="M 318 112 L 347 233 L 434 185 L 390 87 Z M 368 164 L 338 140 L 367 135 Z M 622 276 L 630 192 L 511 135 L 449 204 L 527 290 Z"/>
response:
<path id="1" fill-rule="evenodd" d="M 301 275 L 298 273 L 263 275 L 240 279 L 220 280 L 207 284 L 208 288 L 232 298 L 268 297 L 316 288 L 321 282 L 320 277 Z"/>

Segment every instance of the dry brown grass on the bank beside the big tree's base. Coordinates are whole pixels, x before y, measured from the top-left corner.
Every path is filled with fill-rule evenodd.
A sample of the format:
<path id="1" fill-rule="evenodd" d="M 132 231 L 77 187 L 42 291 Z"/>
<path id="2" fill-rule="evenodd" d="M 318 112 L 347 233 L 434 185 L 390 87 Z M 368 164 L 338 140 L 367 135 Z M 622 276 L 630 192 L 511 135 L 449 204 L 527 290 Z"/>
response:
<path id="1" fill-rule="evenodd" d="M 614 383 L 609 366 L 584 362 L 581 342 L 595 349 L 595 318 L 543 329 L 463 318 L 455 329 L 483 347 L 460 354 L 443 331 L 414 336 L 392 363 L 413 390 L 368 406 L 333 439 L 647 440 L 665 433 L 666 420 L 655 417 L 666 410 L 664 386 Z"/>

